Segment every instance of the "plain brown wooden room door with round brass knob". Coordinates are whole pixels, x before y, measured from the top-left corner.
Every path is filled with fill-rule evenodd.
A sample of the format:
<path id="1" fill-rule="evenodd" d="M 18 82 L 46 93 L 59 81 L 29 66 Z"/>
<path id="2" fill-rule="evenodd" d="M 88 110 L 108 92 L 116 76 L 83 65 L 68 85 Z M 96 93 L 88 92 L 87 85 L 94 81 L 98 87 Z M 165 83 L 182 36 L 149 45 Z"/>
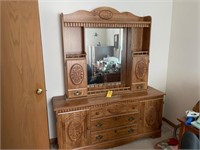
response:
<path id="1" fill-rule="evenodd" d="M 38 2 L 1 2 L 1 148 L 48 149 Z M 36 89 L 43 92 L 38 95 Z"/>

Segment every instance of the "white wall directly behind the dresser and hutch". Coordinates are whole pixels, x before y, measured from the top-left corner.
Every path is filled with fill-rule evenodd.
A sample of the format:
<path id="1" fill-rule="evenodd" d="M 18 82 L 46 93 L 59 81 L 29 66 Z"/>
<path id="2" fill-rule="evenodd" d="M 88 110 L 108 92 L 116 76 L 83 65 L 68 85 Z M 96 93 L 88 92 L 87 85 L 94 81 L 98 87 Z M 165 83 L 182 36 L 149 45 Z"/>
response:
<path id="1" fill-rule="evenodd" d="M 129 11 L 138 16 L 152 16 L 149 85 L 165 91 L 172 0 L 39 0 L 50 138 L 56 137 L 51 98 L 65 93 L 59 15 L 100 6 L 113 7 L 120 12 Z"/>

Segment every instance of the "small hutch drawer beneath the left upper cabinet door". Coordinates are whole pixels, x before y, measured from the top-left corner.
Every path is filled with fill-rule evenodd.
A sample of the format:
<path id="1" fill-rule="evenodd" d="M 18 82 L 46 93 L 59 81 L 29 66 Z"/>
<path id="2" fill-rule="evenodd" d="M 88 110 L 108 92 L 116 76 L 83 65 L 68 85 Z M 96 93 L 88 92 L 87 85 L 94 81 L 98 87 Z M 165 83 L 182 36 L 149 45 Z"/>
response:
<path id="1" fill-rule="evenodd" d="M 87 88 L 81 89 L 70 89 L 67 91 L 68 98 L 80 97 L 80 96 L 87 96 Z"/>

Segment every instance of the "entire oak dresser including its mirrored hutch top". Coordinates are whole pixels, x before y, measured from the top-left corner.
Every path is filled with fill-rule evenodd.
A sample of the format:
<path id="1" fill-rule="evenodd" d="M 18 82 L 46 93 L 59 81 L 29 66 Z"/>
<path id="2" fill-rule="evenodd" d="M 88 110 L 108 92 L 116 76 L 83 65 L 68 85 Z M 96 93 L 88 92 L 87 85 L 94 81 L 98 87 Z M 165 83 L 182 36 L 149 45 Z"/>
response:
<path id="1" fill-rule="evenodd" d="M 66 94 L 53 97 L 59 148 L 159 137 L 164 93 L 148 86 L 151 17 L 99 7 L 61 14 L 61 25 Z"/>

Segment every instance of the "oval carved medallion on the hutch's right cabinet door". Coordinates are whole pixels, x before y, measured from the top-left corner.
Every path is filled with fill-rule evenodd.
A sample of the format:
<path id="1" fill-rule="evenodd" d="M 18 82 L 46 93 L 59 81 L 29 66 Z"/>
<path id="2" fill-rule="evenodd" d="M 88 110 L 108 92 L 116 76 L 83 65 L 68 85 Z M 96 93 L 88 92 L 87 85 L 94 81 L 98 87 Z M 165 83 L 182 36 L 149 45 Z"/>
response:
<path id="1" fill-rule="evenodd" d="M 146 73 L 146 64 L 143 60 L 137 62 L 135 67 L 135 74 L 138 79 L 143 79 Z"/>

